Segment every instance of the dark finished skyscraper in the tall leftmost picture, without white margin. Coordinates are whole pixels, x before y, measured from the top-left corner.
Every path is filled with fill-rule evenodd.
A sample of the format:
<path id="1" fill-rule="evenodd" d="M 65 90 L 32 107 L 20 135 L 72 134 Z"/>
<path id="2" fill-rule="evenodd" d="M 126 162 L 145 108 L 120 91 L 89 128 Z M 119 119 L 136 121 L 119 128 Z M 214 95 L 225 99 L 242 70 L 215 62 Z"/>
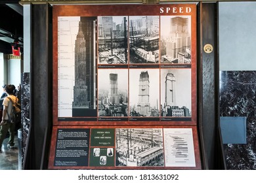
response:
<path id="1" fill-rule="evenodd" d="M 96 116 L 96 17 L 81 17 L 75 39 L 75 84 L 72 116 Z"/>

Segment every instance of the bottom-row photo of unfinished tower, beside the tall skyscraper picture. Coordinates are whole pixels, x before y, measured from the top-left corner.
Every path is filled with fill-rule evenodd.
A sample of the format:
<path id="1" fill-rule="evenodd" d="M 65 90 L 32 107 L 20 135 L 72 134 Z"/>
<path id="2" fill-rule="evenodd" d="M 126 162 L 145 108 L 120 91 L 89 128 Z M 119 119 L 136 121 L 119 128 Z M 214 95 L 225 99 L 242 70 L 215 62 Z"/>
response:
<path id="1" fill-rule="evenodd" d="M 98 116 L 128 116 L 127 69 L 98 69 Z"/>

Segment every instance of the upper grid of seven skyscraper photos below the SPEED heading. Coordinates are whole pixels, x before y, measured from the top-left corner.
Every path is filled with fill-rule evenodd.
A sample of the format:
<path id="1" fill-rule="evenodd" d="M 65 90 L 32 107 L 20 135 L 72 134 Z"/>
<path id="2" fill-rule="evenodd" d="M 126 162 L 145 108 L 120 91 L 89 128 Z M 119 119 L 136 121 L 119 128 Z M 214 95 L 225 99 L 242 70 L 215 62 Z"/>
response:
<path id="1" fill-rule="evenodd" d="M 191 63 L 190 16 L 60 16 L 58 119 L 190 121 Z"/>

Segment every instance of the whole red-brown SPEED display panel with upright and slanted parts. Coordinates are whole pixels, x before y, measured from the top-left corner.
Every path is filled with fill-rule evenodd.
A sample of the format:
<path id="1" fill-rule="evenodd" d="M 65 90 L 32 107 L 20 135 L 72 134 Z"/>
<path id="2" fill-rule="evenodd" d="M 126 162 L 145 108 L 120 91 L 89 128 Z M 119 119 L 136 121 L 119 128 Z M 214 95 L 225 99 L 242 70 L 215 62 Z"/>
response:
<path id="1" fill-rule="evenodd" d="M 53 5 L 49 169 L 201 169 L 196 4 Z"/>

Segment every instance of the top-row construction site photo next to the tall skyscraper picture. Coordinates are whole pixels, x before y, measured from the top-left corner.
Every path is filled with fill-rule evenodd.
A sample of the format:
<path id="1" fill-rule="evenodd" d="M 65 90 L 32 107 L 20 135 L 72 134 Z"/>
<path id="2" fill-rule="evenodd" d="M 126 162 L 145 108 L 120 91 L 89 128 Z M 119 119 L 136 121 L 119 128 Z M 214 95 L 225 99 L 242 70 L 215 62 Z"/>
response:
<path id="1" fill-rule="evenodd" d="M 98 16 L 98 64 L 127 64 L 128 16 Z"/>

